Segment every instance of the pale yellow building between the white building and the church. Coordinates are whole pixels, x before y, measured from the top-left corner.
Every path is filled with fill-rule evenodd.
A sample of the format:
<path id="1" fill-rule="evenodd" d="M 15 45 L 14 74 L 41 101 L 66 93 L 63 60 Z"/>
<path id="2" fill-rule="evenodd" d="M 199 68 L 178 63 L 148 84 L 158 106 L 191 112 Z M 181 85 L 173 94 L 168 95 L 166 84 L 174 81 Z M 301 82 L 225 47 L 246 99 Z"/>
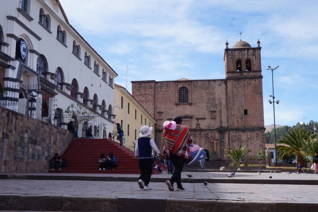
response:
<path id="1" fill-rule="evenodd" d="M 127 101 L 127 102 L 126 102 Z M 137 142 L 139 138 L 139 130 L 143 125 L 153 127 L 155 130 L 156 120 L 150 116 L 139 102 L 127 91 L 126 88 L 115 84 L 114 86 L 114 140 L 117 140 L 116 124 L 119 123 L 124 131 L 123 142 L 124 145 L 133 149 L 133 142 Z M 155 133 L 152 131 L 150 138 L 155 140 Z"/>

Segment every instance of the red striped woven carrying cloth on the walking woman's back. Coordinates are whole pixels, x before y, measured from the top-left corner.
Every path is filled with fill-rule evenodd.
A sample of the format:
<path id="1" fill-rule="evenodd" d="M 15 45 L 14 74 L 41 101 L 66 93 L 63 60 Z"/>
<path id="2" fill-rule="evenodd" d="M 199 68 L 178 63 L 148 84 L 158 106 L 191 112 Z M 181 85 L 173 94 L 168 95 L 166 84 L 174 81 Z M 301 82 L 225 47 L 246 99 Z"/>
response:
<path id="1" fill-rule="evenodd" d="M 188 145 L 192 142 L 190 131 L 186 126 L 177 124 L 175 130 L 164 129 L 162 133 L 165 145 L 163 152 L 169 157 L 169 152 L 185 159 L 190 159 Z"/>

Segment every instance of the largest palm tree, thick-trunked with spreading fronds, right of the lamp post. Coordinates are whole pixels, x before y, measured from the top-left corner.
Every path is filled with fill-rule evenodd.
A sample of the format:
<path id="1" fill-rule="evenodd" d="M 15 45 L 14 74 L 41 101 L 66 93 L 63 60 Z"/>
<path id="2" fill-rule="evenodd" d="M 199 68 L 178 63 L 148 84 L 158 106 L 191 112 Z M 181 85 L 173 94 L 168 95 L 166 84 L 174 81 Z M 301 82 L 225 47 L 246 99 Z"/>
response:
<path id="1" fill-rule="evenodd" d="M 285 144 L 286 146 L 277 146 L 277 151 L 280 152 L 278 159 L 287 155 L 295 155 L 297 157 L 297 164 L 300 163 L 301 166 L 306 167 L 306 160 L 303 153 L 303 147 L 305 142 L 309 138 L 315 138 L 317 135 L 310 135 L 311 132 L 304 128 L 294 128 L 292 131 L 285 135 L 283 140 L 279 140 L 279 143 Z"/>

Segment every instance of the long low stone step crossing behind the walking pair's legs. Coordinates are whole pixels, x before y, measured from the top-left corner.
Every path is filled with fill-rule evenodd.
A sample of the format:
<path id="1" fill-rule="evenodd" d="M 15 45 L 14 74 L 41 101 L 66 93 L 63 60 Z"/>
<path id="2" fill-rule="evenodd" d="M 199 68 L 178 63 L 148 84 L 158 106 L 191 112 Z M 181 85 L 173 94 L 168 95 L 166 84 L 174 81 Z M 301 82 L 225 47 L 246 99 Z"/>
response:
<path id="1" fill-rule="evenodd" d="M 168 175 L 170 176 L 170 175 Z M 150 182 L 165 182 L 169 177 L 162 176 L 162 178 L 151 178 Z M 112 176 L 57 176 L 57 175 L 24 175 L 24 174 L 0 174 L 0 179 L 8 180 L 88 180 L 88 181 L 124 181 L 137 182 L 138 177 L 112 177 Z M 216 179 L 216 178 L 191 178 L 185 179 L 185 183 L 236 183 L 236 184 L 287 184 L 287 185 L 318 185 L 318 180 L 275 180 L 275 179 Z"/>

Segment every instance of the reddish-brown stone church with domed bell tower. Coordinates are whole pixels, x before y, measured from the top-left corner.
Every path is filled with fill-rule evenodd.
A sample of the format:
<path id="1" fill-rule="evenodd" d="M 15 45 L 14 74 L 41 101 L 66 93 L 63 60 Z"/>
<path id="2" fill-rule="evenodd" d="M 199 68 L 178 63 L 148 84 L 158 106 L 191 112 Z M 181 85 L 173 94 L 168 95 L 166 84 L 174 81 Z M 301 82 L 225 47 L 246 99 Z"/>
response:
<path id="1" fill-rule="evenodd" d="M 242 40 L 225 45 L 225 79 L 132 81 L 133 96 L 158 122 L 154 140 L 160 150 L 162 124 L 176 115 L 210 160 L 225 159 L 228 147 L 246 145 L 248 157 L 264 148 L 260 41 L 257 47 Z"/>

